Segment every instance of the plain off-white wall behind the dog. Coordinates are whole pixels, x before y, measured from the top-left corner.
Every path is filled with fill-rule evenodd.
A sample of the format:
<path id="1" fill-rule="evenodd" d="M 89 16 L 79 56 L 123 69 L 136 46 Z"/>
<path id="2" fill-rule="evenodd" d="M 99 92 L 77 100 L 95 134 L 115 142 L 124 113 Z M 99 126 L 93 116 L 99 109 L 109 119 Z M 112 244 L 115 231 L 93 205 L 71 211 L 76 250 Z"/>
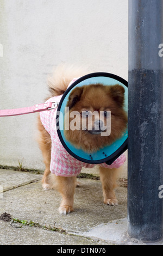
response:
<path id="1" fill-rule="evenodd" d="M 128 0 L 1 0 L 0 44 L 0 109 L 43 102 L 60 63 L 127 80 Z M 1 165 L 44 168 L 36 117 L 0 118 Z"/>

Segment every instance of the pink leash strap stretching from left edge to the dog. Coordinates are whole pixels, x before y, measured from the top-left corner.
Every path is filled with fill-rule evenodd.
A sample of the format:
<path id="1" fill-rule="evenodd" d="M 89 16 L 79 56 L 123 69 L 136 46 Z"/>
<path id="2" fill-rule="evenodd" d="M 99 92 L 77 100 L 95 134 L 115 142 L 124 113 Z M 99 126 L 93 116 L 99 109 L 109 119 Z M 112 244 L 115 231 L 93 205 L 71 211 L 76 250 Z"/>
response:
<path id="1" fill-rule="evenodd" d="M 0 109 L 0 117 L 11 117 L 12 115 L 23 115 L 36 113 L 41 111 L 48 111 L 58 107 L 58 102 L 46 102 L 41 104 L 35 104 L 32 107 L 23 107 L 15 109 Z"/>

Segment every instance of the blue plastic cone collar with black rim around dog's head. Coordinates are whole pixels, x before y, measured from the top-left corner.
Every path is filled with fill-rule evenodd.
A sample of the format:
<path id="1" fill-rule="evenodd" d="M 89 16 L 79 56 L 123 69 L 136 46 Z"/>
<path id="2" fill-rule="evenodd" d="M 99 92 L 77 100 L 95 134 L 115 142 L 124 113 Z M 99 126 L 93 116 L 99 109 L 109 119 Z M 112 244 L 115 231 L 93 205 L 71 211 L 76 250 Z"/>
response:
<path id="1" fill-rule="evenodd" d="M 96 83 L 102 83 L 106 86 L 111 86 L 114 84 L 120 84 L 124 87 L 125 93 L 124 93 L 124 110 L 128 111 L 128 82 L 124 80 L 123 78 L 116 76 L 114 74 L 109 74 L 106 72 L 97 72 L 85 75 L 83 77 L 80 77 L 78 80 L 73 82 L 70 87 L 66 90 L 66 92 L 62 95 L 61 100 L 59 102 L 58 106 L 58 113 L 61 112 L 62 116 L 65 112 L 65 107 L 67 105 L 68 97 L 72 91 L 72 89 L 76 87 L 82 87 L 84 85 L 90 85 L 90 84 L 96 84 Z M 63 126 L 63 119 L 61 118 L 61 115 L 59 115 L 59 126 Z M 128 131 L 123 133 L 122 137 L 120 139 L 117 139 L 114 143 L 111 145 L 98 150 L 96 153 L 88 154 L 82 149 L 75 148 L 70 142 L 68 142 L 64 135 L 64 130 L 57 130 L 58 136 L 60 138 L 60 141 L 64 148 L 67 150 L 69 154 L 71 154 L 76 159 L 86 162 L 86 163 L 103 163 L 106 162 L 108 164 L 111 164 L 114 162 L 118 156 L 120 156 L 124 151 L 127 150 L 127 138 L 128 138 Z"/>

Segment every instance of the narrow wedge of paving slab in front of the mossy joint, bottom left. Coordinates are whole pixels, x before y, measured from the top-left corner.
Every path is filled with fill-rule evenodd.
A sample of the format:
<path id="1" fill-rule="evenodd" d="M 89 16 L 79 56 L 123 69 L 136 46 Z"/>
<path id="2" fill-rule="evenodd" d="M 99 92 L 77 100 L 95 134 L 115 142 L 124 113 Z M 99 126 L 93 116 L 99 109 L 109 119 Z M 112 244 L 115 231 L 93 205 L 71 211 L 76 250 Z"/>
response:
<path id="1" fill-rule="evenodd" d="M 23 225 L 18 228 L 3 221 L 0 221 L 0 226 L 0 245 L 112 245 L 101 239 L 61 234 L 36 227 Z"/>

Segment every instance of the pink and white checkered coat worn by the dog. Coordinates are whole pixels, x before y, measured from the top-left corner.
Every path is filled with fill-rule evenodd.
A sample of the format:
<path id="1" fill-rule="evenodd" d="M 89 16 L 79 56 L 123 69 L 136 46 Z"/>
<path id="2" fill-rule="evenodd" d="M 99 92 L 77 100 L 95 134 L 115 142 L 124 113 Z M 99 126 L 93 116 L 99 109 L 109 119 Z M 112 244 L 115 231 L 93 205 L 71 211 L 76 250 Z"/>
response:
<path id="1" fill-rule="evenodd" d="M 69 86 L 74 81 L 76 81 L 76 79 L 77 78 L 74 78 L 74 80 L 69 84 Z M 46 102 L 48 101 L 59 102 L 61 97 L 62 95 L 54 96 L 51 99 L 48 99 Z M 52 140 L 51 166 L 50 166 L 51 172 L 57 176 L 77 176 L 79 175 L 82 167 L 85 167 L 85 168 L 95 167 L 96 164 L 92 164 L 92 163 L 89 164 L 89 163 L 85 163 L 75 159 L 63 147 L 57 133 L 56 114 L 57 114 L 57 108 L 52 109 L 51 111 L 40 112 L 40 119 L 41 119 L 42 125 L 45 127 L 46 131 L 49 133 Z M 119 168 L 120 166 L 122 166 L 122 164 L 125 161 L 126 161 L 126 156 L 122 154 L 110 165 L 106 163 L 101 163 L 98 165 L 101 167 L 109 168 L 109 169 Z"/>

